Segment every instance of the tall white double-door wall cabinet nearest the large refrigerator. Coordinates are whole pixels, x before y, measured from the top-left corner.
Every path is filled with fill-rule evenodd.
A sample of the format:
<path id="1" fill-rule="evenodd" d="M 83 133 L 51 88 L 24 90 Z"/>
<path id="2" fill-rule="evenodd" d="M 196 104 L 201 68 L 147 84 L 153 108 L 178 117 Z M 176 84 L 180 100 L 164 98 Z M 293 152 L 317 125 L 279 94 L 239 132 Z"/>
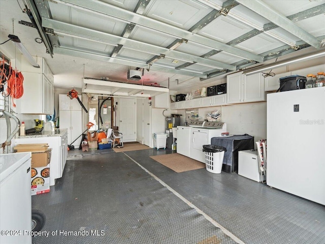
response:
<path id="1" fill-rule="evenodd" d="M 227 103 L 264 100 L 264 79 L 261 73 L 246 76 L 243 72 L 237 72 L 227 76 Z"/>

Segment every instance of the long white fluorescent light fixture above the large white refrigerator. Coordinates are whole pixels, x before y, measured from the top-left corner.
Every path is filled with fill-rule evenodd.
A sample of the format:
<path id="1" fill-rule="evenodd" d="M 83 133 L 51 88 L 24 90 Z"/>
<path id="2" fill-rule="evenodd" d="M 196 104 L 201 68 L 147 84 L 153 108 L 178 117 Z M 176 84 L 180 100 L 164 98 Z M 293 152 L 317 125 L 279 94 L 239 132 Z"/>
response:
<path id="1" fill-rule="evenodd" d="M 256 68 L 250 68 L 247 69 L 247 71 L 244 71 L 243 73 L 246 75 L 253 75 L 253 74 L 257 74 L 259 72 L 263 72 L 266 71 L 268 69 L 273 69 L 273 68 L 278 68 L 278 67 L 282 67 L 291 63 L 297 63 L 297 62 L 301 62 L 301 61 L 306 61 L 312 58 L 317 58 L 317 57 L 322 57 L 325 56 L 325 50 L 322 49 L 321 51 L 315 51 L 306 55 L 302 55 L 302 56 L 298 56 L 295 59 L 284 59 L 278 63 L 274 63 L 274 64 L 270 64 L 270 65 L 265 65 L 263 67 L 256 67 Z"/>

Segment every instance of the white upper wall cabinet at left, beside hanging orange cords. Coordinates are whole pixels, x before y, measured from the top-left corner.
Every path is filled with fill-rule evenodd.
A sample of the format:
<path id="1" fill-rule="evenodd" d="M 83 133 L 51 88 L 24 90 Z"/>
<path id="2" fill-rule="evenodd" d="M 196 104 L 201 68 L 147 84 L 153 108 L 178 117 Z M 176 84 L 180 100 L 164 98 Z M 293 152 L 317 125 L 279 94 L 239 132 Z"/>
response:
<path id="1" fill-rule="evenodd" d="M 21 58 L 24 93 L 17 99 L 17 112 L 21 114 L 54 114 L 53 75 L 44 58 L 38 58 L 40 68 Z"/>

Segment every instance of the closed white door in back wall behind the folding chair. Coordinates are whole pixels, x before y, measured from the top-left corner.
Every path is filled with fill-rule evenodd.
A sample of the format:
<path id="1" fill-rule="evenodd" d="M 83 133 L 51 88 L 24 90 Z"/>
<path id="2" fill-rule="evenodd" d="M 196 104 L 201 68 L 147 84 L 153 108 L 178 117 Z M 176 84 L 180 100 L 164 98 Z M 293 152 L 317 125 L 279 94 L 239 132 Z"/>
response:
<path id="1" fill-rule="evenodd" d="M 136 141 L 136 99 L 120 98 L 119 100 L 119 131 L 124 142 Z"/>

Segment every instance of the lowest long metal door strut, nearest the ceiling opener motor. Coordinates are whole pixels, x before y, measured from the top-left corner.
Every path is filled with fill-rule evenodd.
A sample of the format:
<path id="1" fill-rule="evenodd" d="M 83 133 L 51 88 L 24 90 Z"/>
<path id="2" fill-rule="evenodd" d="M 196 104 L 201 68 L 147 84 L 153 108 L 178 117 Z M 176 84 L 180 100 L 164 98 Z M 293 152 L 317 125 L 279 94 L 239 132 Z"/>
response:
<path id="1" fill-rule="evenodd" d="M 91 60 L 96 60 L 96 61 L 117 63 L 117 64 L 122 64 L 122 65 L 127 65 L 127 66 L 135 66 L 135 67 L 146 68 L 146 69 L 150 68 L 150 70 L 164 72 L 164 73 L 171 73 L 171 74 L 192 76 L 192 77 L 201 77 L 201 78 L 207 77 L 207 75 L 202 74 L 202 73 L 194 73 L 194 72 L 190 72 L 190 71 L 179 71 L 178 69 L 168 68 L 165 66 L 158 66 L 158 65 L 150 66 L 146 63 L 140 63 L 140 62 L 135 62 L 135 61 L 126 60 L 126 59 L 120 59 L 120 58 L 112 58 L 112 57 L 109 57 L 109 56 L 106 56 L 106 55 L 100 54 L 100 53 L 90 53 L 90 52 L 86 53 L 83 50 L 74 50 L 74 49 L 64 48 L 64 47 L 54 47 L 53 52 L 55 54 L 68 55 L 68 56 L 91 59 Z"/>

